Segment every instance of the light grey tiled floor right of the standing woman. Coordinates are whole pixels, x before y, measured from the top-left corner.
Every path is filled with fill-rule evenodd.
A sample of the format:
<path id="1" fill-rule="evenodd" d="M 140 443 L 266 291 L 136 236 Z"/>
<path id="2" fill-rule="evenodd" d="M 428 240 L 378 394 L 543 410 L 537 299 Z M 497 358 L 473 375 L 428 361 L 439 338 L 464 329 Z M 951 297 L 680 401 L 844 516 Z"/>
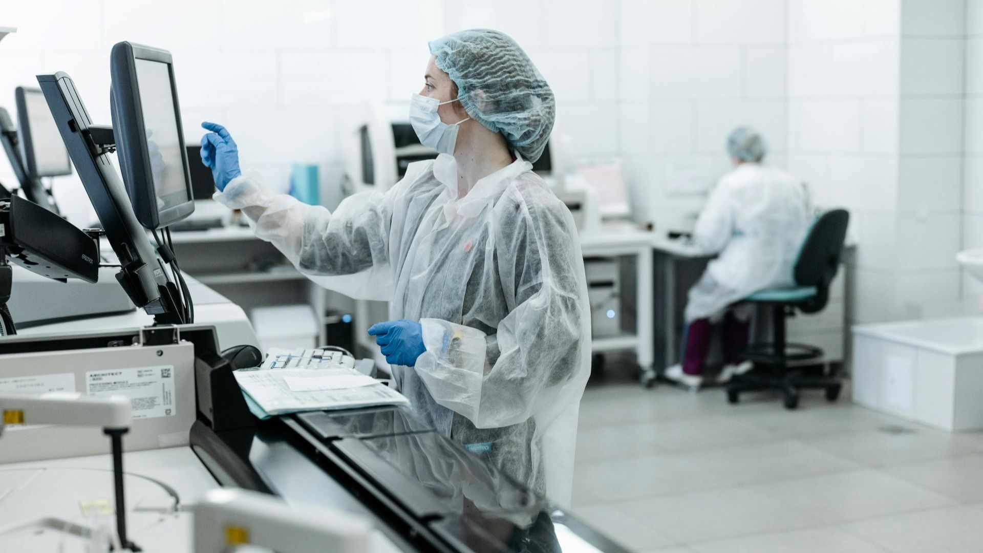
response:
<path id="1" fill-rule="evenodd" d="M 620 370 L 581 403 L 573 511 L 660 553 L 983 551 L 983 433 L 806 393 L 729 405 Z"/>

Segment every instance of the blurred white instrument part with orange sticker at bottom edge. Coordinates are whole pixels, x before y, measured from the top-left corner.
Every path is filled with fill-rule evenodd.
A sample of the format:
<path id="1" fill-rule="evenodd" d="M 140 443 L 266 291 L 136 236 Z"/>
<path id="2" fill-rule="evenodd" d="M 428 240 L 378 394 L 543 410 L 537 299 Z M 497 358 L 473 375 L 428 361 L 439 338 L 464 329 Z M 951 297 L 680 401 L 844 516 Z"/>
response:
<path id="1" fill-rule="evenodd" d="M 279 553 L 364 553 L 372 523 L 317 506 L 302 509 L 268 495 L 237 489 L 208 491 L 194 507 L 195 553 L 244 545 Z"/>

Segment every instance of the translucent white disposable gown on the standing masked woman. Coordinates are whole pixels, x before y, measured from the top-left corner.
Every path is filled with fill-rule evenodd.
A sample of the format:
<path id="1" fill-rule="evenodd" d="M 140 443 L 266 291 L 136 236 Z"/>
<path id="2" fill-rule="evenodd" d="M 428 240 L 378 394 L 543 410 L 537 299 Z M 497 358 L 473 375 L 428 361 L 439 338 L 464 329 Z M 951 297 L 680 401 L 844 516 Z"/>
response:
<path id="1" fill-rule="evenodd" d="M 447 154 L 334 213 L 269 194 L 254 173 L 215 199 L 318 283 L 419 320 L 427 351 L 415 367 L 393 367 L 415 411 L 569 505 L 590 303 L 573 218 L 531 163 L 518 158 L 460 199 Z"/>

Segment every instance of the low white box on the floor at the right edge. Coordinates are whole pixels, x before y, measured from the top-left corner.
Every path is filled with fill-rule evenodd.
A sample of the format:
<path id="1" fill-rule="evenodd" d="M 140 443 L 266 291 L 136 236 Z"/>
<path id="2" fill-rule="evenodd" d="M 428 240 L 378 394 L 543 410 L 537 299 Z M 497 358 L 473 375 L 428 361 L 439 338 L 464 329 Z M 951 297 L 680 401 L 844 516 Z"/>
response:
<path id="1" fill-rule="evenodd" d="M 983 428 L 983 317 L 853 327 L 853 401 L 944 430 Z"/>

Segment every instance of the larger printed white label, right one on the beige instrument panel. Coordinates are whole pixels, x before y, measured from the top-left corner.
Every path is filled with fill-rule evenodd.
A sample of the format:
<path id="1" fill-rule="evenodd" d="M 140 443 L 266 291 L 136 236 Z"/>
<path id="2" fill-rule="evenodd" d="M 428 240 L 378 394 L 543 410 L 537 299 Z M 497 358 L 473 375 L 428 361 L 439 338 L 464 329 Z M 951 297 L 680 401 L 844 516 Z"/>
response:
<path id="1" fill-rule="evenodd" d="M 89 396 L 126 396 L 133 418 L 174 416 L 174 366 L 109 369 L 86 373 Z"/>

